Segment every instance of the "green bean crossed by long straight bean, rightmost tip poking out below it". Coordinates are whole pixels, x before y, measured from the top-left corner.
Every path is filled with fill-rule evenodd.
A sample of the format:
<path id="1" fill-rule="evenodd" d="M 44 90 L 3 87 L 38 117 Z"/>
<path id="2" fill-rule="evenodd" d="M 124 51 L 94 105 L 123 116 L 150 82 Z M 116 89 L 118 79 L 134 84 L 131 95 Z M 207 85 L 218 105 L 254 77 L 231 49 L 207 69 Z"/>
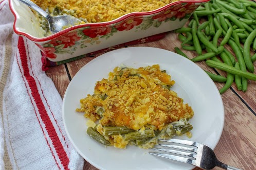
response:
<path id="1" fill-rule="evenodd" d="M 240 69 L 244 72 L 246 72 L 246 65 L 245 65 L 245 61 L 244 61 L 244 57 L 243 54 L 241 52 L 241 50 L 239 49 L 239 47 L 235 44 L 235 42 L 231 39 L 229 39 L 228 44 L 230 45 L 230 47 L 232 48 L 232 50 L 235 53 L 235 56 L 239 62 L 239 66 Z M 245 77 L 242 77 L 242 91 L 245 92 L 247 90 L 247 86 L 248 86 L 248 82 L 247 79 Z"/>

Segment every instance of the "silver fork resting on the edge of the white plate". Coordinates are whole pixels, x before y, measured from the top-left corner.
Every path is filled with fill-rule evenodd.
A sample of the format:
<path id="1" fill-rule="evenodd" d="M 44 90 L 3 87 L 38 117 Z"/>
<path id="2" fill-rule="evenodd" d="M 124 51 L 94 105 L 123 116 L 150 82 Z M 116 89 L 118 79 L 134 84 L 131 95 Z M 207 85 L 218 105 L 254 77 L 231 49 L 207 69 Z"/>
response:
<path id="1" fill-rule="evenodd" d="M 223 169 L 241 170 L 218 161 L 211 148 L 202 143 L 179 139 L 158 141 L 168 144 L 162 143 L 155 145 L 152 149 L 161 151 L 161 153 L 149 152 L 150 154 L 179 162 L 189 163 L 203 169 L 212 169 L 215 166 L 218 166 Z"/>

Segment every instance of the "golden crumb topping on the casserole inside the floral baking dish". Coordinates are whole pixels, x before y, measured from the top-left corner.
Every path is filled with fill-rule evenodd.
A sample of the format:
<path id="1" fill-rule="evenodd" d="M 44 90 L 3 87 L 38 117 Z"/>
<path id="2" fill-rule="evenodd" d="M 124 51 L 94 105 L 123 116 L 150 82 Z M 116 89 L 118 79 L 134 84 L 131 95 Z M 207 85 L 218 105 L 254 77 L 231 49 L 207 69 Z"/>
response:
<path id="1" fill-rule="evenodd" d="M 32 0 L 44 10 L 58 7 L 69 14 L 85 18 L 89 23 L 107 22 L 131 12 L 147 12 L 163 7 L 177 0 Z"/>

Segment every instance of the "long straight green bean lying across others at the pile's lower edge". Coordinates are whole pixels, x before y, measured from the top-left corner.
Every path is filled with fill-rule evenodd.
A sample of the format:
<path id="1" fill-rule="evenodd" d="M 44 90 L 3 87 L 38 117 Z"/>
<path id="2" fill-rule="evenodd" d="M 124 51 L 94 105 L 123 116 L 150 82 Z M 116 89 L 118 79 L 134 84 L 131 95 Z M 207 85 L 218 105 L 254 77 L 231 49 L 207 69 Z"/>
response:
<path id="1" fill-rule="evenodd" d="M 245 72 L 245 71 L 242 71 L 242 70 L 238 70 L 238 69 L 236 69 L 232 66 L 227 65 L 226 63 L 220 63 L 220 62 L 216 62 L 216 61 L 213 61 L 213 60 L 207 60 L 206 64 L 209 67 L 220 69 L 222 71 L 226 71 L 228 73 L 236 74 L 236 75 L 245 77 L 249 80 L 256 81 L 256 75 L 255 74 Z"/>

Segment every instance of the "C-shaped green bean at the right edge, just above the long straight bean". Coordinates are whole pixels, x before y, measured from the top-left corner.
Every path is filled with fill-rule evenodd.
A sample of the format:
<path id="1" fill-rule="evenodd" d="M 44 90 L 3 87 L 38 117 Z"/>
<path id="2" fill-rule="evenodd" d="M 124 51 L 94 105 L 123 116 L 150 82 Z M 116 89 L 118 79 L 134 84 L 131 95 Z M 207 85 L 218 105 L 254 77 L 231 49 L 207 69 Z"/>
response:
<path id="1" fill-rule="evenodd" d="M 245 65 L 247 69 L 253 73 L 254 72 L 254 66 L 251 61 L 251 56 L 250 56 L 250 46 L 253 41 L 253 39 L 256 37 L 256 29 L 253 30 L 249 36 L 246 38 L 245 44 L 244 44 L 244 60 L 245 60 Z"/>

